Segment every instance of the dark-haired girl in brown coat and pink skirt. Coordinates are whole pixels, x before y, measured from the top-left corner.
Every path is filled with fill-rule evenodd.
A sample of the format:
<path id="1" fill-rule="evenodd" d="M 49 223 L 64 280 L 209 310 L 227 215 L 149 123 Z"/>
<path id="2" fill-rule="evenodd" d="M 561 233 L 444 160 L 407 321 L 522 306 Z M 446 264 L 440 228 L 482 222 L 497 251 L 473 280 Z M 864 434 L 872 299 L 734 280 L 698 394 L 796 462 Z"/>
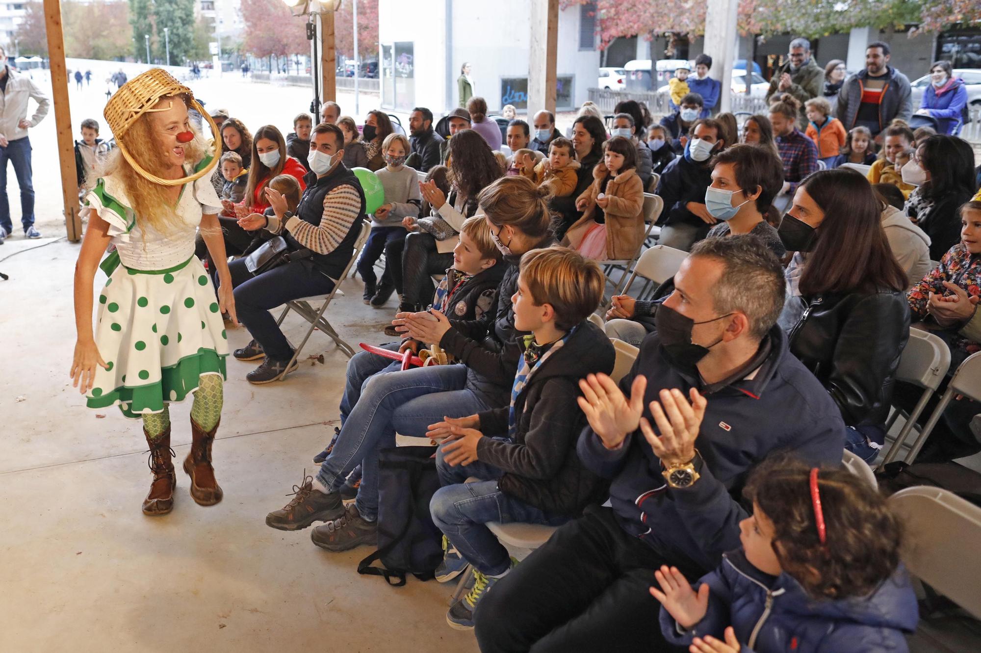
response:
<path id="1" fill-rule="evenodd" d="M 644 183 L 637 175 L 637 146 L 623 136 L 603 143 L 593 184 L 576 200 L 583 212 L 563 245 L 597 261 L 631 259 L 644 241 Z"/>

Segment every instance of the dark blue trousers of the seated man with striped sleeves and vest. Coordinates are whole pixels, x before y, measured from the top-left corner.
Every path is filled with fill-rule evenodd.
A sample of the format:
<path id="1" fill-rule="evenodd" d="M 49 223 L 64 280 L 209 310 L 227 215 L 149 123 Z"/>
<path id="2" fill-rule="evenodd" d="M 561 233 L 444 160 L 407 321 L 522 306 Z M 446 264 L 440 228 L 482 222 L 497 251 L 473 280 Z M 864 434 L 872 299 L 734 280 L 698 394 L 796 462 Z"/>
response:
<path id="1" fill-rule="evenodd" d="M 293 299 L 327 294 L 334 288 L 334 281 L 306 260 L 252 276 L 245 268 L 245 259 L 238 259 L 229 264 L 229 272 L 239 322 L 262 345 L 270 360 L 287 362 L 293 348 L 270 311 Z"/>

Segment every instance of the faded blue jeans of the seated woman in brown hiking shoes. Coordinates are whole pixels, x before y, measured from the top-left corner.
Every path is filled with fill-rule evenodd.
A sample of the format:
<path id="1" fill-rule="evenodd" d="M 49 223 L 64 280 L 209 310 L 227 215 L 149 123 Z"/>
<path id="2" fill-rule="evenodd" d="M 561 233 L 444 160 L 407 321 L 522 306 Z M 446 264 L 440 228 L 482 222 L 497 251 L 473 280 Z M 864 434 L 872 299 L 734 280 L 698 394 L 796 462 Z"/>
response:
<path id="1" fill-rule="evenodd" d="M 467 368 L 438 365 L 371 377 L 340 427 L 334 449 L 317 480 L 337 490 L 358 464 L 363 476 L 357 507 L 369 521 L 378 517 L 378 452 L 395 446 L 395 433 L 423 436 L 444 417 L 460 418 L 495 408 L 466 386 Z"/>

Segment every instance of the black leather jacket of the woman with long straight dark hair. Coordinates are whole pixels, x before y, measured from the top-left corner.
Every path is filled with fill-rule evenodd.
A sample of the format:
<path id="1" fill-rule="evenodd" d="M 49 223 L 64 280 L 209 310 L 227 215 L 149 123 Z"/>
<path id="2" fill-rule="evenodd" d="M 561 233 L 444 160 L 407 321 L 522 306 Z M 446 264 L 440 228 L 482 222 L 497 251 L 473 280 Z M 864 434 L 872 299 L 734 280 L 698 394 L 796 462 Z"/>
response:
<path id="1" fill-rule="evenodd" d="M 880 289 L 790 301 L 806 307 L 790 330 L 791 353 L 831 394 L 847 426 L 883 425 L 909 337 L 904 294 Z"/>

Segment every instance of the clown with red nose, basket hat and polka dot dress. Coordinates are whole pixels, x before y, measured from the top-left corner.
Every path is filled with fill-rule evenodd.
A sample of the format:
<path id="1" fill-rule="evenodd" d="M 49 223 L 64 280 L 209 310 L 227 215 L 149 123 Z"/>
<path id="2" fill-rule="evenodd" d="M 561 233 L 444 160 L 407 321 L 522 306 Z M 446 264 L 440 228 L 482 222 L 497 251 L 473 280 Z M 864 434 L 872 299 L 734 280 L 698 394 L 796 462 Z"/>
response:
<path id="1" fill-rule="evenodd" d="M 211 466 L 229 353 L 222 312 L 237 320 L 218 223 L 222 203 L 209 179 L 221 139 L 215 138 L 218 151 L 209 152 L 188 122 L 188 108 L 217 134 L 190 89 L 166 72 L 152 69 L 124 84 L 104 112 L 118 147 L 93 179 L 81 212 L 88 227 L 75 271 L 72 384 L 89 408 L 119 406 L 125 417 L 142 419 L 153 472 L 146 515 L 174 508 L 169 404 L 191 392 L 193 442 L 183 462 L 190 495 L 202 506 L 222 500 Z M 198 228 L 218 266 L 218 302 L 194 257 Z M 110 246 L 115 250 L 99 264 Z M 99 294 L 93 335 L 96 267 L 109 278 Z"/>

